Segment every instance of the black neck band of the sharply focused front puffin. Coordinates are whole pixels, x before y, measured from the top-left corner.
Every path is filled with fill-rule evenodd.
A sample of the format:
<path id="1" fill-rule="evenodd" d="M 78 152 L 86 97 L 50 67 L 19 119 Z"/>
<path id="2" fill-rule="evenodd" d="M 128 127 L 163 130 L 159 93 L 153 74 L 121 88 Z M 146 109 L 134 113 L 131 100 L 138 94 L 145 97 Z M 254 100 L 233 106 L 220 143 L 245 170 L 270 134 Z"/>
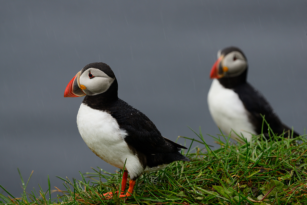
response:
<path id="1" fill-rule="evenodd" d="M 98 95 L 86 95 L 82 103 L 96 110 L 107 110 L 115 101 L 118 100 L 118 83 L 115 78 L 109 89 Z"/>

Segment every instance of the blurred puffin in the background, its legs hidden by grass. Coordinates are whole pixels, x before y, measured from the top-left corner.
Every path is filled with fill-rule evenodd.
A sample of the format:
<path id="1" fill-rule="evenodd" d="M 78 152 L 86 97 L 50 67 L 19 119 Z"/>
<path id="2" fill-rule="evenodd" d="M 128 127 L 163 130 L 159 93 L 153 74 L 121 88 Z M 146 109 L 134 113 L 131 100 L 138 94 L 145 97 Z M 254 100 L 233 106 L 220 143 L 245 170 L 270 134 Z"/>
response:
<path id="1" fill-rule="evenodd" d="M 251 134 L 263 132 L 270 140 L 266 122 L 274 133 L 286 133 L 283 136 L 290 137 L 292 129 L 281 122 L 266 98 L 247 82 L 247 70 L 247 58 L 241 49 L 227 47 L 218 51 L 210 73 L 213 81 L 207 98 L 213 121 L 224 133 L 231 133 L 232 138 L 239 135 L 250 141 Z M 293 131 L 293 136 L 299 134 Z"/>

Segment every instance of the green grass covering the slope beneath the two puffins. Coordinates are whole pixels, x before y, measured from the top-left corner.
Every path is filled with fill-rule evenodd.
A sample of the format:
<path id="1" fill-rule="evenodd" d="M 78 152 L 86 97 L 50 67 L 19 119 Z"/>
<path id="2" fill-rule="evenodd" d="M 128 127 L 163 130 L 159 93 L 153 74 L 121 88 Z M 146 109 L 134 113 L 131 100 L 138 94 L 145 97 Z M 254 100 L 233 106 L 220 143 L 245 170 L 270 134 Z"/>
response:
<path id="1" fill-rule="evenodd" d="M 0 185 L 4 190 L 0 203 L 307 204 L 305 137 L 273 136 L 272 141 L 266 141 L 261 136 L 253 136 L 252 141 L 246 143 L 243 139 L 228 142 L 230 137 L 218 135 L 214 137 L 218 148 L 212 150 L 201 132 L 195 134 L 196 139 L 184 137 L 189 149 L 182 153 L 191 159 L 190 162 L 177 161 L 164 170 L 144 173 L 137 180 L 133 196 L 126 201 L 118 197 L 104 199 L 100 195 L 119 189 L 122 172 L 109 173 L 95 168 L 92 172 L 80 173 L 79 180 L 63 179 L 64 186 L 60 188 L 50 188 L 48 177 L 48 190 L 28 193 L 25 191 L 27 183 L 20 174 L 22 196 L 15 198 Z M 204 148 L 194 147 L 195 141 Z M 54 191 L 57 191 L 57 198 L 51 199 L 50 193 Z"/>

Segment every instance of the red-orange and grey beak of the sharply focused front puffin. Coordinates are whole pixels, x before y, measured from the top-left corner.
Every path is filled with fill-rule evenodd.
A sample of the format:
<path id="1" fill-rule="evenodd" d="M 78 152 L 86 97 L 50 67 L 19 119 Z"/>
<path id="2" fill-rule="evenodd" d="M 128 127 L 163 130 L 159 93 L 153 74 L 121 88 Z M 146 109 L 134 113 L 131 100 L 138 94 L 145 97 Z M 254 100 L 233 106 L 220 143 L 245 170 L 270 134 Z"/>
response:
<path id="1" fill-rule="evenodd" d="M 73 77 L 73 79 L 68 83 L 64 92 L 64 98 L 67 97 L 81 97 L 86 95 L 83 92 L 83 89 L 86 89 L 84 85 L 80 85 L 79 83 L 80 72 Z"/>

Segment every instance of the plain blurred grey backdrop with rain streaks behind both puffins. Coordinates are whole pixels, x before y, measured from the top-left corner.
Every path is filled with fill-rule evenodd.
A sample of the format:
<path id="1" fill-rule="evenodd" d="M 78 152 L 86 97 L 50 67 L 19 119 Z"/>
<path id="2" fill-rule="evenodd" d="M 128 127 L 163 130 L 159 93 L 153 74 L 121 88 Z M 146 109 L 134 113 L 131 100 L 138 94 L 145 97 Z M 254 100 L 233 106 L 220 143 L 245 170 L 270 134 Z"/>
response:
<path id="1" fill-rule="evenodd" d="M 219 49 L 238 46 L 248 81 L 303 134 L 306 17 L 306 1 L 1 1 L 0 184 L 18 197 L 17 167 L 26 179 L 34 170 L 28 192 L 37 184 L 46 191 L 47 175 L 64 189 L 56 175 L 116 170 L 78 133 L 83 97 L 63 97 L 72 77 L 97 61 L 113 69 L 119 97 L 163 136 L 196 137 L 187 126 L 216 136 L 209 73 Z"/>

